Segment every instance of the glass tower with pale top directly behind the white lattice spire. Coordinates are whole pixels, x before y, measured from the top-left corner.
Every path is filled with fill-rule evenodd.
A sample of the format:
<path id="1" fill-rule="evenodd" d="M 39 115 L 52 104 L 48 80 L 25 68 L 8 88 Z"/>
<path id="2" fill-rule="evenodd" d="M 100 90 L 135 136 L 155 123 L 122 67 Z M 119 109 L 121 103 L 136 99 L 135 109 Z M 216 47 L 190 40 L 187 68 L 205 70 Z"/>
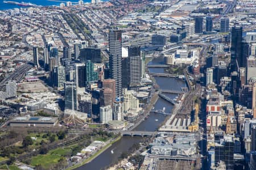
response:
<path id="1" fill-rule="evenodd" d="M 77 110 L 77 88 L 74 82 L 65 82 L 65 109 Z"/>

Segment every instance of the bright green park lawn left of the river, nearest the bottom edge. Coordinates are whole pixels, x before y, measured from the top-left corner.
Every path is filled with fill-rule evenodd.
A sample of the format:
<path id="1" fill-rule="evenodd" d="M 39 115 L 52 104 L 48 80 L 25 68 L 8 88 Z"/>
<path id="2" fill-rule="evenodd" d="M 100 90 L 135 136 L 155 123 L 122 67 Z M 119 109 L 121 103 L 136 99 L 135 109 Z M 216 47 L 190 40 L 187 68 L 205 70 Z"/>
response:
<path id="1" fill-rule="evenodd" d="M 44 168 L 48 169 L 52 164 L 59 162 L 60 158 L 61 158 L 60 155 L 51 155 L 51 154 L 38 155 L 38 156 L 32 157 L 31 165 L 32 166 L 42 165 Z"/>

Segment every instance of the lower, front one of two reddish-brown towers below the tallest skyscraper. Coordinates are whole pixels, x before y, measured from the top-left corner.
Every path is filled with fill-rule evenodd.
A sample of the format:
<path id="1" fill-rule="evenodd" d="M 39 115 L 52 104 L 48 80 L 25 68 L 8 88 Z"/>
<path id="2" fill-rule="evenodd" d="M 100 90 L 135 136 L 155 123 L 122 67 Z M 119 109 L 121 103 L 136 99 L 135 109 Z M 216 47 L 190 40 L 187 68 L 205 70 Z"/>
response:
<path id="1" fill-rule="evenodd" d="M 115 98 L 113 96 L 113 90 L 110 88 L 101 88 L 100 91 L 100 104 L 101 106 L 110 105 L 113 106 Z"/>

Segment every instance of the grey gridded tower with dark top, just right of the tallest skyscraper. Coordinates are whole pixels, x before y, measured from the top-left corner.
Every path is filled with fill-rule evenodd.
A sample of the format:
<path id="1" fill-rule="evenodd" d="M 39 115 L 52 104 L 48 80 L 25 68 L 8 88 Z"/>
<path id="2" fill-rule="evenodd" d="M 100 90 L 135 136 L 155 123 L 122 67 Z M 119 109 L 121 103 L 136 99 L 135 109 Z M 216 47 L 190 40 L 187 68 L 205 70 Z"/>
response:
<path id="1" fill-rule="evenodd" d="M 141 47 L 129 46 L 127 60 L 128 84 L 141 83 Z"/>

